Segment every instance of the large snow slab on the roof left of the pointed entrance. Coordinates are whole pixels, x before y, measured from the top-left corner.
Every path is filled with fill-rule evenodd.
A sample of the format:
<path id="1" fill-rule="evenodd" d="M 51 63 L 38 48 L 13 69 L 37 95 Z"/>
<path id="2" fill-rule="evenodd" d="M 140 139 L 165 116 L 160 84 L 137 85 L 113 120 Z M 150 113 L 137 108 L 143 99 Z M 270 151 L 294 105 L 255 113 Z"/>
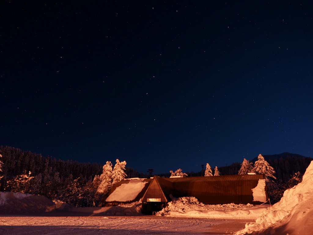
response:
<path id="1" fill-rule="evenodd" d="M 147 181 L 143 179 L 129 180 L 128 184 L 118 186 L 105 201 L 133 201 L 136 196 L 143 190 Z"/>

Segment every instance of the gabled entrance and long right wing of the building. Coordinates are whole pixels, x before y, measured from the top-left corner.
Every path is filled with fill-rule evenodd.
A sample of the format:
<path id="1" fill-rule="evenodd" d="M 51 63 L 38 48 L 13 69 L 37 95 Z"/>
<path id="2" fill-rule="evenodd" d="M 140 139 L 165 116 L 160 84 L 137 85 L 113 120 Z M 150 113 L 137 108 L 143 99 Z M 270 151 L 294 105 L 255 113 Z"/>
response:
<path id="1" fill-rule="evenodd" d="M 142 198 L 142 212 L 161 210 L 172 196 L 196 197 L 205 204 L 262 204 L 269 199 L 265 175 L 154 176 Z"/>

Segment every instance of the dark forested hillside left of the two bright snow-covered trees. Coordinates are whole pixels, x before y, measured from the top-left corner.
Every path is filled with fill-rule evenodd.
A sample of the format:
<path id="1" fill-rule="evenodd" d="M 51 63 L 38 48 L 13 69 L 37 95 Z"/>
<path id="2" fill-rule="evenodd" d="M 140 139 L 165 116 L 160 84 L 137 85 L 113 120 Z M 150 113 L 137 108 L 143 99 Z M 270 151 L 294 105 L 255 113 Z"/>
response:
<path id="1" fill-rule="evenodd" d="M 1 146 L 0 191 L 39 194 L 74 206 L 98 206 L 103 194 L 97 193 L 103 165 L 63 161 L 50 156 Z M 126 167 L 128 178 L 145 178 L 133 168 Z"/>

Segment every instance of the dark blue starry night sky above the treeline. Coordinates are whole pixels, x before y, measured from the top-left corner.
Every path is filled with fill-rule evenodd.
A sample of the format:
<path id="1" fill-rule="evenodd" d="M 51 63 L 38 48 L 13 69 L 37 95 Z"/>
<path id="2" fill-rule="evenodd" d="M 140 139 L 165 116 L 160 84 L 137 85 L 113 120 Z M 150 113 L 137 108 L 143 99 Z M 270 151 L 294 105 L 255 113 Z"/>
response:
<path id="1" fill-rule="evenodd" d="M 313 157 L 307 1 L 2 1 L 0 145 L 183 172 Z"/>

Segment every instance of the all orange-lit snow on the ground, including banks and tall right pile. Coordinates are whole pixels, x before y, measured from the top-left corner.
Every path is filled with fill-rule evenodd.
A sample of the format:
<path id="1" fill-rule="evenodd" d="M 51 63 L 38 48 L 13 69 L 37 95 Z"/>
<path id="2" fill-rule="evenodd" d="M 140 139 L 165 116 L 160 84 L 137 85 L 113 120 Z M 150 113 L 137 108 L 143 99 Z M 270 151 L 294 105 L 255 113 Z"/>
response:
<path id="1" fill-rule="evenodd" d="M 283 198 L 270 207 L 205 205 L 196 198 L 183 197 L 173 198 L 166 208 L 157 213 L 158 216 L 141 216 L 140 206 L 141 203 L 136 202 L 114 207 L 75 208 L 57 201 L 54 203 L 43 196 L 0 192 L 0 234 L 29 234 L 33 231 L 31 233 L 63 235 L 147 232 L 308 235 L 313 227 L 313 161 L 303 181 L 286 190 Z M 29 212 L 41 214 L 33 216 Z M 236 222 L 238 219 L 241 219 L 241 227 Z M 248 223 L 240 230 L 244 227 L 243 221 Z M 225 227 L 227 224 L 229 229 Z M 218 226 L 222 226 L 223 231 L 218 232 Z M 236 229 L 240 231 L 236 232 Z"/>

